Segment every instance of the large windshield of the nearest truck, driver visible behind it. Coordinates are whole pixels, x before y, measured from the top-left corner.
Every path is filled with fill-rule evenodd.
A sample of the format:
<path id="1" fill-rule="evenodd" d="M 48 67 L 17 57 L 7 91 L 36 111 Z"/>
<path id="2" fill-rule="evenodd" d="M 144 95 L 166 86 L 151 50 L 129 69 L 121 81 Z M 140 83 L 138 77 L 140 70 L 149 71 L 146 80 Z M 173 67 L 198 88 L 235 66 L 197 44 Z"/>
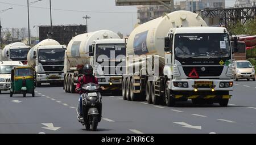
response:
<path id="1" fill-rule="evenodd" d="M 229 35 L 226 33 L 175 36 L 175 55 L 178 58 L 224 58 L 230 54 Z"/>

